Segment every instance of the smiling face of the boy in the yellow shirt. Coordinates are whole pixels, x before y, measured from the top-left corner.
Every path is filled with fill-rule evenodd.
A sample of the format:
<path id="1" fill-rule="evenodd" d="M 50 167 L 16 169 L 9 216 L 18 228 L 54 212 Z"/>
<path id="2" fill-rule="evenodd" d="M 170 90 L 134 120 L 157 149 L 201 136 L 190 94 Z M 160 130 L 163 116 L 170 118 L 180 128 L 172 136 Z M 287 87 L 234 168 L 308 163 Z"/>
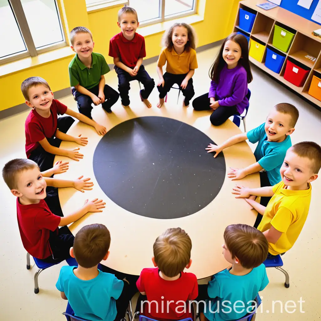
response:
<path id="1" fill-rule="evenodd" d="M 289 148 L 280 169 L 282 181 L 290 187 L 289 189 L 307 189 L 308 183 L 317 178 L 317 174 L 313 173 L 312 168 L 311 160 L 298 156 Z"/>

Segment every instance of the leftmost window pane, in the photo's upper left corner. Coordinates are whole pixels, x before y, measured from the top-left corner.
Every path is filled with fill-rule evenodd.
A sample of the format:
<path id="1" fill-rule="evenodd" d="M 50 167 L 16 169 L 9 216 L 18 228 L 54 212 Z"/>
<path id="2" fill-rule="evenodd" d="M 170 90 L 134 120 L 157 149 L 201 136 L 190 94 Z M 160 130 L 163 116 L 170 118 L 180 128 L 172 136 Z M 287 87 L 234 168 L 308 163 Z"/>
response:
<path id="1" fill-rule="evenodd" d="M 0 0 L 0 30 L 2 30 L 1 41 L 3 44 L 0 47 L 0 58 L 26 50 L 8 0 Z"/>

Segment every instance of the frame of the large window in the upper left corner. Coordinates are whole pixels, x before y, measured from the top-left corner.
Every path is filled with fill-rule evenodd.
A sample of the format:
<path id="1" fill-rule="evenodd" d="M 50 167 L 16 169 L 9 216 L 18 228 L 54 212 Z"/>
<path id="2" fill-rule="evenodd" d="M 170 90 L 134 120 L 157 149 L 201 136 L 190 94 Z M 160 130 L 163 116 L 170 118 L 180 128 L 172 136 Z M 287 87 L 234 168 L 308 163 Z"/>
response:
<path id="1" fill-rule="evenodd" d="M 35 44 L 32 40 L 31 32 L 30 32 L 30 29 L 28 26 L 26 15 L 25 15 L 23 8 L 22 8 L 21 1 L 20 0 L 8 0 L 9 5 L 12 8 L 14 18 L 18 24 L 18 28 L 21 33 L 22 40 L 26 46 L 26 50 L 23 51 L 22 53 L 17 53 L 17 54 L 14 53 L 12 55 L 8 55 L 3 58 L 0 58 L 0 65 L 3 65 L 3 64 L 6 64 L 8 62 L 12 62 L 12 61 L 15 61 L 18 59 L 26 58 L 26 57 L 35 57 L 41 53 L 44 53 L 44 52 L 47 52 L 50 50 L 54 50 L 54 49 L 58 49 L 58 48 L 62 48 L 67 45 L 65 30 L 63 28 L 63 23 L 62 23 L 60 12 L 59 12 L 60 10 L 59 10 L 58 1 L 57 0 L 54 0 L 54 1 L 56 2 L 58 19 L 60 22 L 63 40 L 56 42 L 55 44 L 49 44 L 47 46 L 40 47 L 40 48 L 36 49 Z"/>

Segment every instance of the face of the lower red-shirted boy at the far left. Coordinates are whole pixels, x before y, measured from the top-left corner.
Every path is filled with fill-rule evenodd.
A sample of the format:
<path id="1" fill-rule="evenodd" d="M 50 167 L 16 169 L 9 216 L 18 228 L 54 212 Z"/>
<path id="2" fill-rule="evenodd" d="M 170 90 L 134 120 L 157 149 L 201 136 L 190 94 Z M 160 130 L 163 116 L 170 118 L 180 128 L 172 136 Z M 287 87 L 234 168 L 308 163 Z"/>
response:
<path id="1" fill-rule="evenodd" d="M 21 197 L 28 203 L 39 203 L 46 194 L 47 183 L 38 167 L 26 169 L 19 173 L 17 188 L 12 189 L 13 195 Z"/>

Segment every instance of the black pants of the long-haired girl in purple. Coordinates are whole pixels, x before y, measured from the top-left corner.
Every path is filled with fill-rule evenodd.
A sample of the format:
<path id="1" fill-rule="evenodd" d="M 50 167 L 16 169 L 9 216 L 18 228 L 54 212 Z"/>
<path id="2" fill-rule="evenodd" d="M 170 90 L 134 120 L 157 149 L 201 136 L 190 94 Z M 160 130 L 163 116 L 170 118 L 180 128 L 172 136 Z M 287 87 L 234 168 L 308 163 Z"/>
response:
<path id="1" fill-rule="evenodd" d="M 217 100 L 217 97 L 215 98 Z M 193 108 L 199 110 L 212 110 L 210 107 L 210 99 L 208 93 L 202 96 L 196 97 L 193 100 Z M 236 106 L 220 106 L 215 109 L 210 116 L 210 121 L 214 126 L 220 126 L 225 123 L 231 116 L 239 115 Z"/>

